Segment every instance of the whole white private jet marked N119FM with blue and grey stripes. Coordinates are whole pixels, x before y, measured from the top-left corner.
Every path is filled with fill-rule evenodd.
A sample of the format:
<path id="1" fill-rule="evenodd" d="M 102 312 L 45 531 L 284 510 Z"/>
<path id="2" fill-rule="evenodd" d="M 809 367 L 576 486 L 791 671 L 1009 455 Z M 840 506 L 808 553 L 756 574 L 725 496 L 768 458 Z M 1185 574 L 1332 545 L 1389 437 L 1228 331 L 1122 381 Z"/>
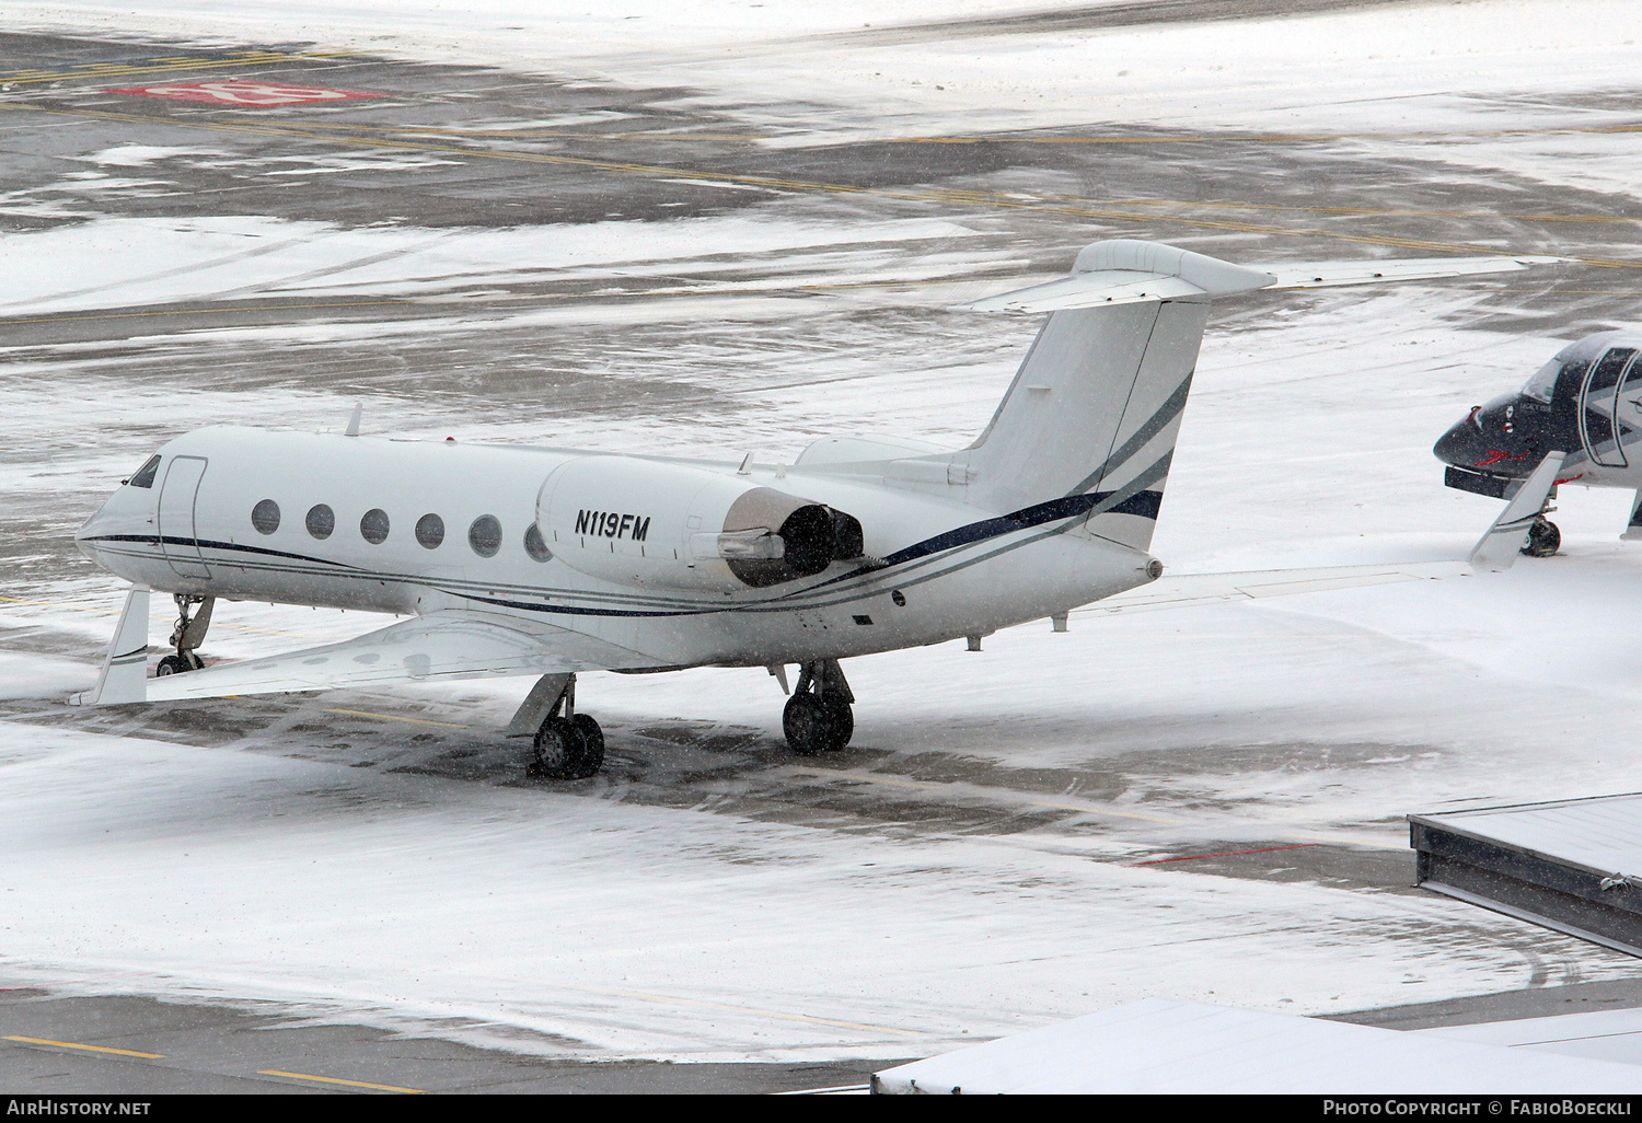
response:
<path id="1" fill-rule="evenodd" d="M 1148 552 L 1209 304 L 1273 286 L 1520 269 L 1448 258 L 1246 269 L 1146 241 L 1100 241 L 1069 277 L 977 302 L 1048 312 L 969 447 L 831 437 L 791 463 L 200 429 L 164 445 L 76 535 L 131 581 L 97 688 L 115 704 L 539 675 L 509 734 L 532 770 L 585 777 L 604 736 L 580 672 L 762 667 L 787 688 L 801 754 L 854 729 L 851 655 L 969 639 L 1103 598 L 1184 603 Z M 1557 458 L 1560 460 L 1560 458 Z M 1542 466 L 1473 560 L 1514 555 Z M 1540 491 L 1542 494 L 1542 491 Z M 1442 565 L 1442 563 L 1438 563 Z M 1207 599 L 1378 580 L 1220 575 Z M 1407 576 L 1407 568 L 1384 580 Z M 1141 589 L 1140 586 L 1151 586 Z M 149 589 L 181 609 L 148 676 Z M 1266 589 L 1264 593 L 1261 589 Z M 410 616 L 343 644 L 204 665 L 218 601 Z"/>

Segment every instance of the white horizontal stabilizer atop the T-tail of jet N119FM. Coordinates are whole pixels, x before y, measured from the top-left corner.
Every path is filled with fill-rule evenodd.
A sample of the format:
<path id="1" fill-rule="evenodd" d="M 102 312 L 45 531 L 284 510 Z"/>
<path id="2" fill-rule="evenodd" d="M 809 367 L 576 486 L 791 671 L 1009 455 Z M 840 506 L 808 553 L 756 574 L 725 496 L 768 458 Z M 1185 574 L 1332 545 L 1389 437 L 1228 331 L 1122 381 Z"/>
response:
<path id="1" fill-rule="evenodd" d="M 1097 241 L 1079 253 L 1069 277 L 984 297 L 964 307 L 975 312 L 1066 312 L 1140 300 L 1205 300 L 1256 289 L 1322 289 L 1342 284 L 1514 273 L 1532 264 L 1562 259 L 1537 254 L 1489 254 L 1481 258 L 1302 261 L 1245 268 L 1156 241 L 1115 238 Z"/>

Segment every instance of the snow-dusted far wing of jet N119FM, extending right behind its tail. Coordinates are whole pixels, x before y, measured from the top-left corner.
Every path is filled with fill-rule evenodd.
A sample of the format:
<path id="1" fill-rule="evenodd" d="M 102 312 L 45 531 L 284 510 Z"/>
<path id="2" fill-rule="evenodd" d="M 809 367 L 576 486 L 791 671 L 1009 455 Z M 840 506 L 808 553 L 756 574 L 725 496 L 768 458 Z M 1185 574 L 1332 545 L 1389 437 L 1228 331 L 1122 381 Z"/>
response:
<path id="1" fill-rule="evenodd" d="M 1074 609 L 1072 616 L 1120 616 L 1153 609 L 1190 607 L 1222 601 L 1259 601 L 1268 596 L 1328 593 L 1366 584 L 1430 581 L 1476 573 L 1468 562 L 1406 562 L 1401 565 L 1332 565 L 1315 570 L 1253 570 L 1248 573 L 1166 575 L 1126 593 Z"/>

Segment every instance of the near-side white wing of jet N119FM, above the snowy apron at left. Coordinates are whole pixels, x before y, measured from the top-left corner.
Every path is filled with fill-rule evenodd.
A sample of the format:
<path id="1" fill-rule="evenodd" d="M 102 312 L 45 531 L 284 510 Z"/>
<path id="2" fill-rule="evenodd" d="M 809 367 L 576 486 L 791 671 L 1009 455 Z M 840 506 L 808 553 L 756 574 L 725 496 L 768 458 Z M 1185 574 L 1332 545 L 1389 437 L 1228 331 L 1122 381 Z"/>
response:
<path id="1" fill-rule="evenodd" d="M 552 624 L 445 611 L 399 621 L 342 644 L 149 678 L 143 701 L 658 665 L 639 652 Z"/>

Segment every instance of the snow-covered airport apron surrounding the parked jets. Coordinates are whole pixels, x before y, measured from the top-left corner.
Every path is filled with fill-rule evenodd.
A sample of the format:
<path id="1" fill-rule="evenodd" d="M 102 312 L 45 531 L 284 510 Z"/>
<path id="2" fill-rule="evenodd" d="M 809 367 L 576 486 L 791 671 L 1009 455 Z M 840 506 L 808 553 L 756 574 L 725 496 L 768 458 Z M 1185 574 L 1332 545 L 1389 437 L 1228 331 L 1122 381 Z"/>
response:
<path id="1" fill-rule="evenodd" d="M 1181 571 L 1443 558 L 1496 504 L 1440 486 L 1435 437 L 1562 340 L 1626 322 L 1642 181 L 1631 135 L 1604 130 L 1635 125 L 1634 5 L 826 38 L 874 7 L 670 5 L 657 31 L 649 8 L 494 3 L 458 23 L 422 3 L 391 34 L 366 3 L 28 10 L 131 36 L 177 34 L 181 11 L 220 41 L 680 87 L 668 105 L 765 136 L 752 148 L 775 163 L 749 156 L 741 181 L 841 138 L 1353 135 L 1243 154 L 1190 141 L 1097 172 L 1011 159 L 851 195 L 741 182 L 755 197 L 734 209 L 517 227 L 163 209 L 225 166 L 268 182 L 365 161 L 414 182 L 460 151 L 261 151 L 176 128 L 85 141 L 5 184 L 0 217 L 26 225 L 0 236 L 0 985 L 266 1000 L 570 1056 L 813 1059 L 933 1054 L 1146 995 L 1332 1013 L 1635 975 L 1404 892 L 1396 865 L 1409 811 L 1642 788 L 1642 555 L 1616 542 L 1622 494 L 1566 491 L 1565 557 L 1502 576 L 857 660 L 837 760 L 778 747 L 780 696 L 754 672 L 588 676 L 612 765 L 562 790 L 519 783 L 494 737 L 525 683 L 59 704 L 118 603 L 66 537 L 197 424 L 335 429 L 363 397 L 378 432 L 465 440 L 778 453 L 870 429 L 957 445 L 1033 325 L 946 305 L 1098 236 L 1251 263 L 1433 241 L 1608 263 L 1217 314 L 1154 552 Z M 931 0 L 905 20 L 1020 10 Z M 3 121 L 8 144 L 43 128 Z M 847 153 L 828 159 L 795 177 L 854 174 Z M 1593 222 L 1545 220 L 1575 213 Z M 409 304 L 190 319 L 296 297 Z M 79 319 L 135 307 L 133 327 Z M 218 621 L 220 657 L 379 622 L 266 606 Z M 1286 852 L 1135 865 L 1300 842 L 1338 877 Z"/>

